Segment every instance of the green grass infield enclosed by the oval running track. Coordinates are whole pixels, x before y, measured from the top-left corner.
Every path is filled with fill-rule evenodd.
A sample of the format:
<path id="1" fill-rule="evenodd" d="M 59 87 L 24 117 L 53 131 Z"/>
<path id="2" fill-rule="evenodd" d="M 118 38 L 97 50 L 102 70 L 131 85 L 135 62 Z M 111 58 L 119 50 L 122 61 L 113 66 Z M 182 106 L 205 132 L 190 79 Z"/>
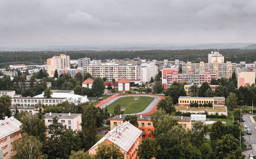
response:
<path id="1" fill-rule="evenodd" d="M 117 99 L 113 103 L 107 106 L 108 112 L 113 114 L 114 107 L 119 104 L 121 107 L 125 107 L 124 114 L 139 113 L 146 109 L 146 107 L 154 100 L 154 97 L 140 96 L 138 100 L 134 100 L 131 97 L 122 97 Z"/>

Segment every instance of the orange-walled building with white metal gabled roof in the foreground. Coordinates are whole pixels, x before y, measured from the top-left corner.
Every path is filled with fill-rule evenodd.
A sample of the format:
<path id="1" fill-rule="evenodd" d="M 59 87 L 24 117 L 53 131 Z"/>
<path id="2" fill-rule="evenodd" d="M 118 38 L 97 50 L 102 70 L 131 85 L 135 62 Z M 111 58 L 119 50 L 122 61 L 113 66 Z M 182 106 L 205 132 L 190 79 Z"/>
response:
<path id="1" fill-rule="evenodd" d="M 90 154 L 95 154 L 98 144 L 105 142 L 107 144 L 114 143 L 120 147 L 122 153 L 125 153 L 125 159 L 136 159 L 138 146 L 142 143 L 142 131 L 130 124 L 130 122 L 123 122 L 110 130 L 104 137 L 102 137 L 90 149 Z"/>

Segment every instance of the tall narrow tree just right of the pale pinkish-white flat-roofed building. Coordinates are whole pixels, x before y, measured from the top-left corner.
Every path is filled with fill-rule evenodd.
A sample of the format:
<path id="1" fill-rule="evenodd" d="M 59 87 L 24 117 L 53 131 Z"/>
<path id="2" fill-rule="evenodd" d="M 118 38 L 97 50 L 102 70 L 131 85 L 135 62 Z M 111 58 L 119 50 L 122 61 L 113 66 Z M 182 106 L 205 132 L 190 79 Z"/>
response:
<path id="1" fill-rule="evenodd" d="M 93 105 L 86 106 L 82 113 L 82 130 L 84 134 L 84 149 L 89 150 L 96 143 L 96 121 L 93 116 Z"/>

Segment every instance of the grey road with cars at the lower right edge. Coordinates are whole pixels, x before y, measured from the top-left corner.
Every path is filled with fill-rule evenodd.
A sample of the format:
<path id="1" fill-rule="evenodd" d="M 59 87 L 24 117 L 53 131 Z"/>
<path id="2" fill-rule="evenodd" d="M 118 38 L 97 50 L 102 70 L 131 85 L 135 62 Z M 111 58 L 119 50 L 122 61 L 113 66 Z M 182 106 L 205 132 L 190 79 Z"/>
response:
<path id="1" fill-rule="evenodd" d="M 242 122 L 243 125 L 247 125 L 248 128 L 251 129 L 251 135 L 246 134 L 244 136 L 245 144 L 251 144 L 252 149 L 242 152 L 242 154 L 246 155 L 248 157 L 249 154 L 256 155 L 256 130 L 254 127 L 256 127 L 256 123 L 254 120 L 251 121 L 250 116 L 254 115 L 243 115 L 245 117 L 245 122 Z M 252 117 L 251 117 L 252 118 Z M 245 124 L 244 124 L 245 123 Z"/>

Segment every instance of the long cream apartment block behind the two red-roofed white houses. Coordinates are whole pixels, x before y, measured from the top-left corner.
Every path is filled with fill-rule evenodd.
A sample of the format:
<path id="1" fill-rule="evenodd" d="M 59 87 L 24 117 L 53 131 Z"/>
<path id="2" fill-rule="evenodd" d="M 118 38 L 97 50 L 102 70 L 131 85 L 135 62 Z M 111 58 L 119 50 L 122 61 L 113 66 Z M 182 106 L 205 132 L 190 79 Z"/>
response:
<path id="1" fill-rule="evenodd" d="M 116 81 L 120 78 L 128 78 L 130 80 L 136 79 L 137 66 L 115 66 L 115 65 L 105 65 L 105 66 L 83 66 L 84 74 L 87 72 L 92 75 L 92 78 L 101 77 L 107 78 L 107 81 Z"/>

